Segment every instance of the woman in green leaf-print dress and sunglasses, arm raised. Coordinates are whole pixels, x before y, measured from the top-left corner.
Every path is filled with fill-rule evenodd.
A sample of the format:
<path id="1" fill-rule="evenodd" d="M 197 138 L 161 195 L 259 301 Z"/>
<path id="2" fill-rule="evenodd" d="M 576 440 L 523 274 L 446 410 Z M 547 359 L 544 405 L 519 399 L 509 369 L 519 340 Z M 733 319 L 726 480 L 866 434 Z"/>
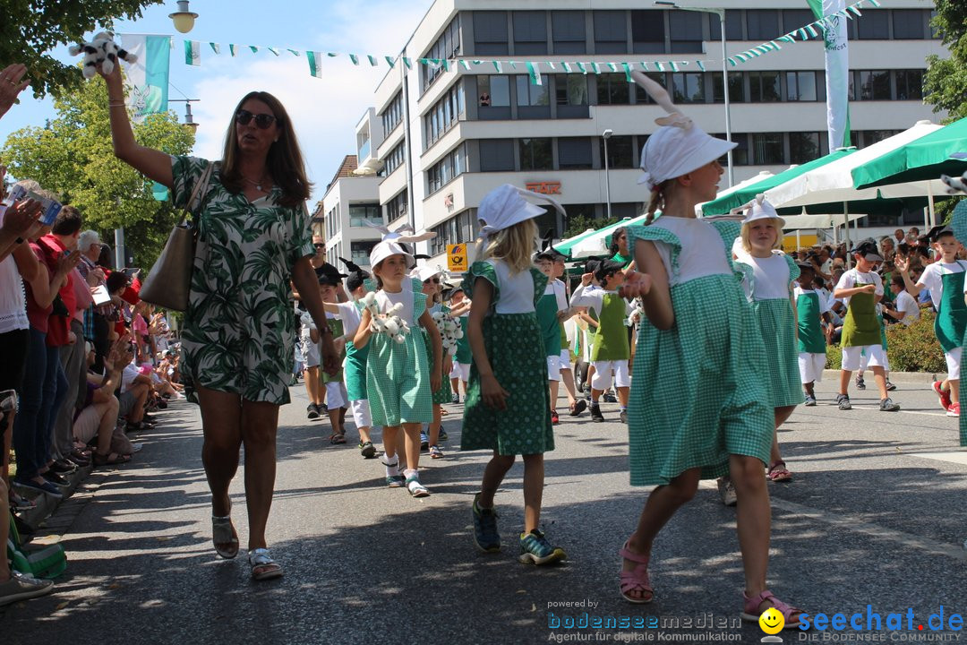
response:
<path id="1" fill-rule="evenodd" d="M 185 207 L 212 161 L 139 145 L 119 67 L 103 74 L 114 154 L 172 192 Z M 276 479 L 278 406 L 289 402 L 295 320 L 291 280 L 319 329 L 329 330 L 315 273 L 305 201 L 310 185 L 292 122 L 278 99 L 250 92 L 236 107 L 224 153 L 194 215 L 197 244 L 182 335 L 186 390 L 201 406 L 202 461 L 212 489 L 212 532 L 223 558 L 238 554 L 228 485 L 246 451 L 249 565 L 254 579 L 282 569 L 266 548 Z M 331 334 L 323 367 L 337 369 Z"/>

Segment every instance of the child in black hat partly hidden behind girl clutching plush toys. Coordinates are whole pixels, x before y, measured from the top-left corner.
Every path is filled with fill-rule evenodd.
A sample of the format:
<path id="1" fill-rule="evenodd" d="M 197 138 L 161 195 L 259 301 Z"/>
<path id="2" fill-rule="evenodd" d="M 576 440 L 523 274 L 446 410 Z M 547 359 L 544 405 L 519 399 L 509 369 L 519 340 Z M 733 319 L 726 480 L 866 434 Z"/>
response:
<path id="1" fill-rule="evenodd" d="M 355 263 L 342 258 L 339 259 L 349 271 L 349 275 L 346 276 L 346 290 L 349 291 L 352 301 L 348 303 L 327 302 L 325 307 L 327 312 L 337 314 L 342 323 L 342 338 L 345 340 L 346 354 L 342 363 L 346 398 L 349 400 L 353 423 L 356 424 L 356 430 L 360 434 L 358 446 L 360 454 L 365 459 L 371 459 L 376 456 L 376 447 L 373 446 L 372 438 L 369 435 L 372 415 L 369 412 L 369 401 L 366 396 L 366 359 L 369 356 L 369 347 L 359 348 L 353 342 L 363 319 L 362 306 L 359 301 L 366 295 L 366 280 L 369 279 L 369 274 Z M 335 340 L 339 340 L 339 337 L 336 337 Z"/>

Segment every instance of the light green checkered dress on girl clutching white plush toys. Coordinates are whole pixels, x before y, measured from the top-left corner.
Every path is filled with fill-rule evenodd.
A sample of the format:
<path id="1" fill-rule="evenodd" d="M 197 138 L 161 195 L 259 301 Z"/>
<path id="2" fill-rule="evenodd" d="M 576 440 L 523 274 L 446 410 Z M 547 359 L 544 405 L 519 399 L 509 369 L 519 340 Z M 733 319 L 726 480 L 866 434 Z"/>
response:
<path id="1" fill-rule="evenodd" d="M 426 345 L 419 329 L 420 316 L 426 310 L 426 296 L 419 279 L 403 280 L 404 299 L 413 299 L 413 319 L 406 322 L 410 333 L 403 342 L 386 334 L 373 334 L 366 346 L 366 394 L 372 425 L 428 424 L 433 421 L 433 396 L 429 389 L 429 365 Z M 380 311 L 392 304 L 383 291 L 376 292 Z"/>

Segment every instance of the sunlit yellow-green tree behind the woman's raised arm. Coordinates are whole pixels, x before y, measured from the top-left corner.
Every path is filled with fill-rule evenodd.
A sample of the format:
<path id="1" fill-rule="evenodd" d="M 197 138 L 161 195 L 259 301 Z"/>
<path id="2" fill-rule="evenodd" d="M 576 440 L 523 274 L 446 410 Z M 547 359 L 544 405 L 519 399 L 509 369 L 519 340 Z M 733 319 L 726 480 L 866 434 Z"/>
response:
<path id="1" fill-rule="evenodd" d="M 76 69 L 73 73 L 80 76 Z M 124 226 L 129 254 L 137 266 L 150 267 L 179 215 L 169 201 L 154 198 L 153 182 L 114 157 L 103 78 L 95 76 L 77 92 L 55 99 L 54 107 L 57 118 L 44 128 L 12 133 L 0 157 L 16 178 L 34 179 L 58 192 L 105 242 L 113 239 L 114 228 Z M 132 126 L 140 144 L 170 155 L 186 155 L 194 144 L 194 133 L 174 112 L 152 114 Z"/>

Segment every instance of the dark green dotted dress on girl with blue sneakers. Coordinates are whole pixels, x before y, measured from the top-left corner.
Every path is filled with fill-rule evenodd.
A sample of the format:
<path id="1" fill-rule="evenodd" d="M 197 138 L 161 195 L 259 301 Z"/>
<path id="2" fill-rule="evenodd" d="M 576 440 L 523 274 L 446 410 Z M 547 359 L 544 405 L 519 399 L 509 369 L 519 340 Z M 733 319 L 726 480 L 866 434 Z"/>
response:
<path id="1" fill-rule="evenodd" d="M 530 272 L 534 279 L 536 306 L 547 278 L 535 268 Z M 484 405 L 477 364 L 470 364 L 460 450 L 495 450 L 498 454 L 552 451 L 554 431 L 550 424 L 547 357 L 537 315 L 534 311 L 496 313 L 500 283 L 497 273 L 487 262 L 474 262 L 463 280 L 463 290 L 471 298 L 478 278 L 493 285 L 493 302 L 484 318 L 484 348 L 497 382 L 510 396 L 507 397 L 506 410 L 498 411 Z"/>

